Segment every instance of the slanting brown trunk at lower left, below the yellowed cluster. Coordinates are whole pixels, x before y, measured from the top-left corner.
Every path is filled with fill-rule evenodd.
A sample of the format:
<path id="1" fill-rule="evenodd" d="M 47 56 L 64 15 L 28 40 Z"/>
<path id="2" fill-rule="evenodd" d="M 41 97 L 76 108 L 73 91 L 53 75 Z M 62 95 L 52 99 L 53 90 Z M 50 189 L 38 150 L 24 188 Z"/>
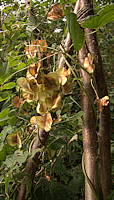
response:
<path id="1" fill-rule="evenodd" d="M 43 145 L 45 145 L 45 142 L 47 141 L 48 133 L 45 132 L 43 129 L 39 130 L 38 137 L 35 139 L 32 150 L 35 150 L 37 148 L 41 148 Z M 36 153 L 35 156 L 31 159 L 28 159 L 26 167 L 25 167 L 25 177 L 20 185 L 17 200 L 25 200 L 26 192 L 27 192 L 27 185 L 29 182 L 32 182 L 35 176 L 35 172 L 37 169 L 37 164 L 40 163 L 40 152 Z"/>

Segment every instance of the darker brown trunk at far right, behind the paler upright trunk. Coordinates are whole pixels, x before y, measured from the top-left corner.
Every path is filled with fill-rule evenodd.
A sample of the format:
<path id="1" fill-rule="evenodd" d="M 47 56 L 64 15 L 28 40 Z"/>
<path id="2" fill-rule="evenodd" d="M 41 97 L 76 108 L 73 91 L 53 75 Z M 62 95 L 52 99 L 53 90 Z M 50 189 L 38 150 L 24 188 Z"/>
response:
<path id="1" fill-rule="evenodd" d="M 81 6 L 86 6 L 93 14 L 92 0 L 81 0 Z M 92 29 L 85 30 L 86 45 L 94 58 L 95 80 L 99 98 L 108 95 L 105 77 L 103 73 L 102 58 L 99 52 L 96 33 Z M 104 200 L 107 199 L 111 190 L 111 157 L 110 157 L 110 110 L 105 107 L 99 115 L 99 149 L 100 149 L 100 168 L 101 168 L 101 187 Z"/>

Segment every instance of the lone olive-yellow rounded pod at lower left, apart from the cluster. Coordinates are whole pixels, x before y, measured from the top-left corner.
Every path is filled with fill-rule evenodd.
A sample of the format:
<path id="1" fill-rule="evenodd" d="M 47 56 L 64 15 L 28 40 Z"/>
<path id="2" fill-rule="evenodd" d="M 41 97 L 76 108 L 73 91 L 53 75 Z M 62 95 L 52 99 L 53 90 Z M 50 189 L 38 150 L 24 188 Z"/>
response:
<path id="1" fill-rule="evenodd" d="M 10 146 L 12 147 L 18 146 L 19 148 L 22 147 L 21 139 L 17 133 L 12 133 L 8 135 L 6 139 L 7 139 L 7 143 Z"/>

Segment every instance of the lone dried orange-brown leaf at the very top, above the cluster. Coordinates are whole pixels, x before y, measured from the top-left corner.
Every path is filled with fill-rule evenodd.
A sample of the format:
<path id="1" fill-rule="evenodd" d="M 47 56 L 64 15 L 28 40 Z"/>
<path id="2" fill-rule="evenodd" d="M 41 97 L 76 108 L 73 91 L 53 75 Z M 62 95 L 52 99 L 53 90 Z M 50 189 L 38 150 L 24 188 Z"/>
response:
<path id="1" fill-rule="evenodd" d="M 62 6 L 58 3 L 51 7 L 47 14 L 47 19 L 56 20 L 64 17 L 64 12 Z"/>

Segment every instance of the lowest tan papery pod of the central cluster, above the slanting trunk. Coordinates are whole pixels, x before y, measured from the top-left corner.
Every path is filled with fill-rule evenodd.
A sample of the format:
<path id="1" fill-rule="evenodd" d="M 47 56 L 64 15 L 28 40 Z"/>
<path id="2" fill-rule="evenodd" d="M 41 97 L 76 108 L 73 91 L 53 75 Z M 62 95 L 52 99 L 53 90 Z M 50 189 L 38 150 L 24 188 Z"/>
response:
<path id="1" fill-rule="evenodd" d="M 52 117 L 51 114 L 48 112 L 42 116 L 33 116 L 30 119 L 30 122 L 33 125 L 38 125 L 39 128 L 44 129 L 46 132 L 50 131 L 52 125 Z"/>

